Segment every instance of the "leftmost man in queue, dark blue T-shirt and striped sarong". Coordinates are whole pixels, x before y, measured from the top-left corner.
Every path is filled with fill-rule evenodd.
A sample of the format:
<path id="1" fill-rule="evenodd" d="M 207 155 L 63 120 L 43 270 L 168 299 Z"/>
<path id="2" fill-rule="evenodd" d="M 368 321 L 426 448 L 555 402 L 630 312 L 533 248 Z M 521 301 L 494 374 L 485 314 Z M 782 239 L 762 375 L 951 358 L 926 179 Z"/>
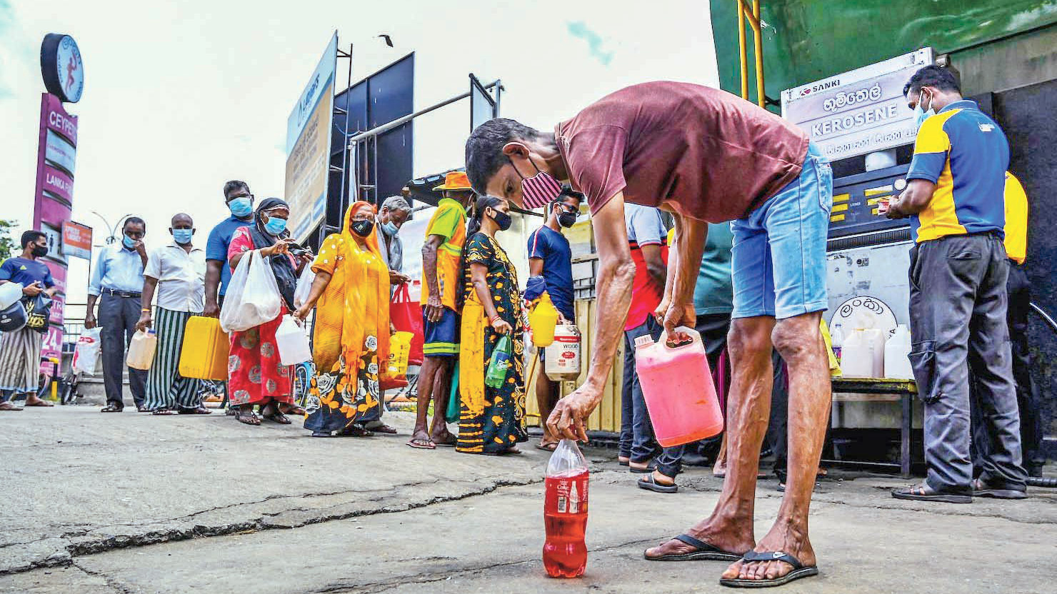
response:
<path id="1" fill-rule="evenodd" d="M 22 256 L 8 258 L 0 264 L 0 284 L 17 282 L 22 285 L 22 296 L 48 297 L 58 290 L 48 265 L 40 261 L 48 255 L 48 238 L 40 231 L 22 234 Z M 15 332 L 0 334 L 0 410 L 22 410 L 12 401 L 25 394 L 25 406 L 52 406 L 37 397 L 37 373 L 40 369 L 40 350 L 47 334 L 24 327 Z"/>

